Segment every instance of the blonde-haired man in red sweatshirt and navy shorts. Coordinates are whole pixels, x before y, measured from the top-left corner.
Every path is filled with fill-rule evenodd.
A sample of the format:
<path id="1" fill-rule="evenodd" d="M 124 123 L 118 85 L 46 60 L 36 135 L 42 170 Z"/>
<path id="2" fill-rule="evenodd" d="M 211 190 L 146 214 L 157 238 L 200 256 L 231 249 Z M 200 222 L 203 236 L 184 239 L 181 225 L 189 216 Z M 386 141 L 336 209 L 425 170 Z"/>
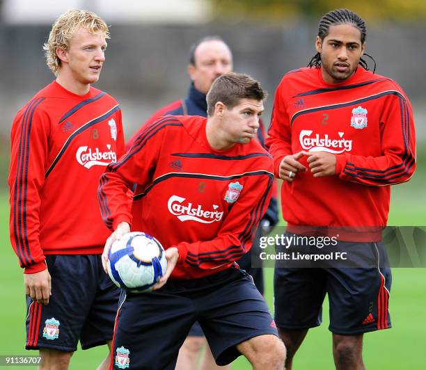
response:
<path id="1" fill-rule="evenodd" d="M 24 268 L 26 349 L 40 369 L 68 369 L 83 349 L 111 345 L 119 291 L 100 255 L 109 231 L 97 208 L 106 166 L 124 152 L 121 112 L 90 86 L 109 38 L 105 22 L 68 10 L 45 44 L 56 80 L 16 115 L 10 155 L 10 241 Z M 100 369 L 107 369 L 109 356 Z"/>

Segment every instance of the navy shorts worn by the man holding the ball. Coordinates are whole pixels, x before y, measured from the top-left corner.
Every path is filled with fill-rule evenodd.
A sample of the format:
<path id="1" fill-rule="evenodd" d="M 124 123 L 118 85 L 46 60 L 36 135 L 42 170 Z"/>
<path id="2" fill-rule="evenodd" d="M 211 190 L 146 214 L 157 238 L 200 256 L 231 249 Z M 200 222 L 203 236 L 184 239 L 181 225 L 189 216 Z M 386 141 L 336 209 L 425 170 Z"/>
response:
<path id="1" fill-rule="evenodd" d="M 149 293 L 123 293 L 113 339 L 113 369 L 175 369 L 180 346 L 200 323 L 216 363 L 229 364 L 237 344 L 278 335 L 250 276 L 237 268 L 194 280 L 169 280 Z"/>

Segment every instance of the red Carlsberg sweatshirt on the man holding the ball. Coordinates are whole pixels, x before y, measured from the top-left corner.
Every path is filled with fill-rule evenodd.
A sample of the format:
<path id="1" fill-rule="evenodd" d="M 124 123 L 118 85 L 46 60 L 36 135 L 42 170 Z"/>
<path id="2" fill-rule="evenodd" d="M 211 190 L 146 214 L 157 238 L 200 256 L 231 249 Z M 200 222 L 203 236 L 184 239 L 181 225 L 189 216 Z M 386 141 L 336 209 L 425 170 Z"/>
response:
<path id="1" fill-rule="evenodd" d="M 125 221 L 164 248 L 178 248 L 173 279 L 216 273 L 248 252 L 271 197 L 271 156 L 255 140 L 213 150 L 206 122 L 199 116 L 160 118 L 100 180 L 107 226 Z M 129 210 L 125 194 L 132 184 L 137 187 Z"/>

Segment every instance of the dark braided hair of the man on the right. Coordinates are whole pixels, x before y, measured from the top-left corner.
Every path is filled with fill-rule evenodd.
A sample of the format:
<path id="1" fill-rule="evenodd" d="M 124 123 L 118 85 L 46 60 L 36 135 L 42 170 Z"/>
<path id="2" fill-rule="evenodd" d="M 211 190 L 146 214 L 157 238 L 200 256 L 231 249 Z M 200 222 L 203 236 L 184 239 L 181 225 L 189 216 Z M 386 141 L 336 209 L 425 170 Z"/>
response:
<path id="1" fill-rule="evenodd" d="M 318 25 L 318 37 L 321 40 L 324 40 L 327 35 L 329 35 L 330 26 L 336 26 L 338 24 L 345 24 L 349 23 L 352 24 L 356 29 L 358 29 L 361 32 L 361 45 L 364 44 L 365 38 L 367 37 L 367 28 L 365 27 L 364 19 L 362 19 L 359 15 L 352 12 L 352 10 L 349 9 L 336 9 L 332 10 L 329 13 L 326 13 L 326 15 L 323 15 L 323 17 L 319 20 Z M 365 56 L 368 56 L 373 63 L 374 63 L 374 69 L 373 73 L 376 71 L 376 61 L 374 61 L 374 58 L 372 56 L 369 56 L 368 54 L 365 54 Z M 359 59 L 359 65 L 363 67 L 365 70 L 369 70 L 367 62 L 363 59 Z M 310 60 L 308 67 L 315 67 L 319 68 L 321 66 L 321 54 L 317 53 L 313 58 Z"/>

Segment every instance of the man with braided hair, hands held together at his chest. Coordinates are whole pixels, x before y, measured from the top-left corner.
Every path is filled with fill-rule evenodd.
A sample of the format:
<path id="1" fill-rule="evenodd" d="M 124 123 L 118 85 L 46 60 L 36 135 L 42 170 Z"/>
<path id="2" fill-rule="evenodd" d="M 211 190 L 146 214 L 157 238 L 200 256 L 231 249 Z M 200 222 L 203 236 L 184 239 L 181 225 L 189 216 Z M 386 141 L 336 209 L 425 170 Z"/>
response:
<path id="1" fill-rule="evenodd" d="M 336 248 L 370 262 L 276 266 L 275 319 L 287 369 L 309 328 L 321 323 L 326 293 L 337 369 L 364 369 L 363 333 L 390 328 L 381 230 L 390 185 L 407 182 L 416 168 L 415 134 L 400 86 L 368 71 L 361 58 L 365 37 L 363 19 L 351 10 L 327 13 L 317 54 L 308 67 L 285 74 L 276 90 L 267 145 L 275 176 L 283 179 L 287 236 L 312 236 L 315 246 L 306 238 L 298 248 L 317 255 L 318 238 L 333 236 Z"/>

